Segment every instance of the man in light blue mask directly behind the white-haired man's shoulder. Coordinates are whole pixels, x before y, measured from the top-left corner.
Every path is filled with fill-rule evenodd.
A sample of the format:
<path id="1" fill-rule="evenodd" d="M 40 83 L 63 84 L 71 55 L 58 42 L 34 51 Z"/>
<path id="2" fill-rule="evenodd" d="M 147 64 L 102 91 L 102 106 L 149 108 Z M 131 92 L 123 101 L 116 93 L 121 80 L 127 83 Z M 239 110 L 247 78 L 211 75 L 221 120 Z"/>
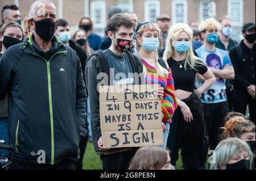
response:
<path id="1" fill-rule="evenodd" d="M 84 76 L 84 71 L 85 71 L 85 62 L 87 60 L 86 52 L 80 45 L 75 44 L 71 40 L 71 35 L 69 33 L 70 26 L 65 19 L 58 19 L 58 22 L 56 23 L 56 30 L 55 33 L 57 36 L 59 36 L 59 39 L 62 43 L 65 45 L 68 45 L 71 47 L 73 50 L 75 50 L 77 56 L 79 56 L 79 60 L 82 65 L 82 74 L 84 77 L 84 82 L 85 82 L 85 76 Z M 88 123 L 85 121 L 85 126 L 88 128 Z M 82 170 L 82 158 L 84 157 L 85 150 L 86 150 L 86 144 L 88 141 L 88 134 L 86 134 L 85 137 L 82 137 L 82 140 L 79 143 L 79 148 L 80 148 L 80 159 L 79 161 L 76 162 L 76 169 L 77 170 Z"/>

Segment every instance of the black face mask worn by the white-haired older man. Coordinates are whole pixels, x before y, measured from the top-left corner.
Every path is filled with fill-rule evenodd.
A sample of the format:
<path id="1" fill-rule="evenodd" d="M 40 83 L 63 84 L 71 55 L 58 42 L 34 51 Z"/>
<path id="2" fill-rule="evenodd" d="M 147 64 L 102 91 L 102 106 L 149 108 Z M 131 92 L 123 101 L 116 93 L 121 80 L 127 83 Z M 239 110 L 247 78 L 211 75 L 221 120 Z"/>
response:
<path id="1" fill-rule="evenodd" d="M 49 41 L 52 39 L 55 32 L 55 23 L 51 18 L 35 21 L 35 32 L 41 39 Z"/>

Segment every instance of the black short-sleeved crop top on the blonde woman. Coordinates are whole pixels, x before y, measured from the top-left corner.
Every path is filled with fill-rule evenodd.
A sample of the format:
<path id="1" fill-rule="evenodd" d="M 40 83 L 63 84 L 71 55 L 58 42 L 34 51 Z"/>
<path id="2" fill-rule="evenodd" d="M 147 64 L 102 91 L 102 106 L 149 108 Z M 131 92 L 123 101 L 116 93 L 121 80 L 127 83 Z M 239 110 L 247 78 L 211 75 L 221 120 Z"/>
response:
<path id="1" fill-rule="evenodd" d="M 206 65 L 199 64 L 196 64 L 194 69 L 185 70 L 184 62 L 178 61 L 178 64 L 173 58 L 169 58 L 167 62 L 172 70 L 175 90 L 180 89 L 188 92 L 194 92 L 196 73 L 203 75 L 208 70 Z M 180 68 L 181 63 L 183 63 L 182 68 Z"/>

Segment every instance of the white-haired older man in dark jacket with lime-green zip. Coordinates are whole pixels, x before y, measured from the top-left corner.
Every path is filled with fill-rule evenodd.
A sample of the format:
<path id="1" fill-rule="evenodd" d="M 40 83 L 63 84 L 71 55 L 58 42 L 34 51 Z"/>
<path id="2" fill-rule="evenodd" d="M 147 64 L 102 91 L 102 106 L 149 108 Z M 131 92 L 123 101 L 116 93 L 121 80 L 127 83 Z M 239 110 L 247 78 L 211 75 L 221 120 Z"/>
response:
<path id="1" fill-rule="evenodd" d="M 39 0 L 30 10 L 34 33 L 0 60 L 0 99 L 8 92 L 14 146 L 10 169 L 75 169 L 79 141 L 86 135 L 81 64 L 76 52 L 54 36 L 55 5 Z"/>

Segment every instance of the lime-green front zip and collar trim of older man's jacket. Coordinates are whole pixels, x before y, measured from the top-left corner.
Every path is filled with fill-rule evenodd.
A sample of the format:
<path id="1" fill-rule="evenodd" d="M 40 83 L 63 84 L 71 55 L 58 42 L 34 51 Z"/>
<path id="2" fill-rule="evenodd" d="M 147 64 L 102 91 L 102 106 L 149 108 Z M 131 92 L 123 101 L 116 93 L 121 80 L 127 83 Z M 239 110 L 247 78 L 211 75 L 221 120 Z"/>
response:
<path id="1" fill-rule="evenodd" d="M 48 96 L 49 96 L 49 111 L 50 111 L 50 120 L 51 120 L 51 165 L 54 165 L 54 129 L 53 129 L 53 111 L 52 111 L 52 88 L 51 88 L 51 71 L 50 71 L 50 62 L 53 57 L 56 56 L 56 54 L 60 53 L 67 53 L 67 51 L 64 52 L 57 52 L 53 54 L 53 56 L 50 58 L 49 61 L 46 60 L 46 58 L 39 56 L 37 54 L 34 54 L 35 56 L 38 56 L 42 58 L 47 65 L 47 79 L 48 79 Z"/>

